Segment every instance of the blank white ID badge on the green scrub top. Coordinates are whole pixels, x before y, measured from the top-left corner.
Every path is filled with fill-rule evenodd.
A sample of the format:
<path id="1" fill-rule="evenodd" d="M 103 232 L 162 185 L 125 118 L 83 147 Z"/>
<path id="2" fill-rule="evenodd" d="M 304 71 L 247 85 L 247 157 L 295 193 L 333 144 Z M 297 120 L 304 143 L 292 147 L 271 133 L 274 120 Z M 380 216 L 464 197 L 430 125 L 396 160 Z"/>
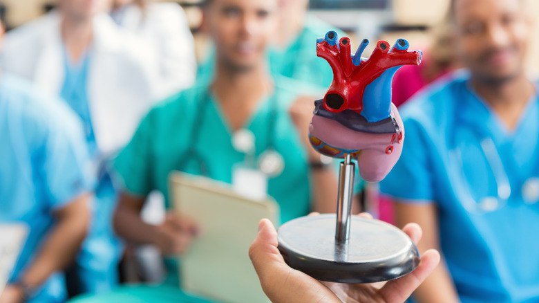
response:
<path id="1" fill-rule="evenodd" d="M 267 176 L 258 169 L 235 165 L 232 169 L 232 188 L 236 194 L 263 200 L 267 197 Z"/>

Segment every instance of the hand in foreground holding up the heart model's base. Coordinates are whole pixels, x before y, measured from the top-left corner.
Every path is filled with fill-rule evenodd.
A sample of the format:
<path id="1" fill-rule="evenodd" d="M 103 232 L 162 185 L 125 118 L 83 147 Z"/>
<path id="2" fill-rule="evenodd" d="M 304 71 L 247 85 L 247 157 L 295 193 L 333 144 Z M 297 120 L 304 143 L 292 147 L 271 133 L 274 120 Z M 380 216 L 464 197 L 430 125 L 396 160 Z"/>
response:
<path id="1" fill-rule="evenodd" d="M 366 214 L 361 214 L 366 217 Z M 421 228 L 410 223 L 403 231 L 414 243 L 422 235 Z M 339 284 L 318 280 L 288 266 L 279 252 L 277 232 L 272 223 L 263 219 L 258 235 L 249 248 L 249 257 L 267 297 L 274 303 L 303 302 L 404 302 L 415 288 L 435 269 L 439 253 L 427 250 L 419 266 L 410 274 L 385 283 Z"/>

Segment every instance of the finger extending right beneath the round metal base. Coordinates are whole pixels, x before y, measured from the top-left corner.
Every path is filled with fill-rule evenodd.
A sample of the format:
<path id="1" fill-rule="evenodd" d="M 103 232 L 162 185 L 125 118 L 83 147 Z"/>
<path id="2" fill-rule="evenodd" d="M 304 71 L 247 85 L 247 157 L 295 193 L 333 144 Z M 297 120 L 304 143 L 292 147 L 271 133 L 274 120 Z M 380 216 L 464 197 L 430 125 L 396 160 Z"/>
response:
<path id="1" fill-rule="evenodd" d="M 384 297 L 385 302 L 404 302 L 408 299 L 413 291 L 433 272 L 439 264 L 439 259 L 440 256 L 437 250 L 431 249 L 424 252 L 419 266 L 412 273 L 387 282 L 380 289 L 380 294 Z"/>

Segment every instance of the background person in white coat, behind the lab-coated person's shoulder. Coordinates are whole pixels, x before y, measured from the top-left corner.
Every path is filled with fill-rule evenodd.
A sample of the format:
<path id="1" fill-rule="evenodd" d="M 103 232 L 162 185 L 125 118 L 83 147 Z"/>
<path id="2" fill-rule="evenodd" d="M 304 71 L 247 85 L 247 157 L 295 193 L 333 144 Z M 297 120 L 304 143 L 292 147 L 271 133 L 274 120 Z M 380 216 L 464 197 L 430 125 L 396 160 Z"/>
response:
<path id="1" fill-rule="evenodd" d="M 142 37 L 146 44 L 155 48 L 158 97 L 167 98 L 194 83 L 195 45 L 185 13 L 178 3 L 113 0 L 111 16 L 122 28 Z"/>

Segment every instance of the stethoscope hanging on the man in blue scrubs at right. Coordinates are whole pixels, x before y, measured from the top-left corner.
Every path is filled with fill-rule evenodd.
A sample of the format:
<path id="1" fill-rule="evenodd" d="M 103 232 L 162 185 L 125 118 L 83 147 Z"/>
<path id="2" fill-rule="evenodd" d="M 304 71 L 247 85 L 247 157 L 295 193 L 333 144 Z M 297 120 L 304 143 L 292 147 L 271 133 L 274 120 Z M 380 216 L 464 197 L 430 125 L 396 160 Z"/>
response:
<path id="1" fill-rule="evenodd" d="M 534 98 L 537 100 L 537 98 Z M 537 101 L 534 101 L 537 102 Z M 476 138 L 479 139 L 480 150 L 486 159 L 486 163 L 491 169 L 494 177 L 496 194 L 490 196 L 484 196 L 479 201 L 473 198 L 472 187 L 464 173 L 464 161 L 462 160 L 462 148 L 455 147 L 449 151 L 449 158 L 451 163 L 454 164 L 453 186 L 455 192 L 457 192 L 457 200 L 459 200 L 463 207 L 473 214 L 485 214 L 489 212 L 495 212 L 507 205 L 509 198 L 511 197 L 511 183 L 506 169 L 504 168 L 502 157 L 496 147 L 494 141 L 489 134 L 480 134 L 480 131 L 474 125 L 463 120 L 457 120 L 457 125 L 467 127 L 470 129 Z M 462 180 L 462 181 L 460 181 Z M 456 186 L 458 185 L 460 186 Z M 539 202 L 539 177 L 532 176 L 527 178 L 522 184 L 521 188 L 522 199 L 524 203 L 535 204 Z"/>

